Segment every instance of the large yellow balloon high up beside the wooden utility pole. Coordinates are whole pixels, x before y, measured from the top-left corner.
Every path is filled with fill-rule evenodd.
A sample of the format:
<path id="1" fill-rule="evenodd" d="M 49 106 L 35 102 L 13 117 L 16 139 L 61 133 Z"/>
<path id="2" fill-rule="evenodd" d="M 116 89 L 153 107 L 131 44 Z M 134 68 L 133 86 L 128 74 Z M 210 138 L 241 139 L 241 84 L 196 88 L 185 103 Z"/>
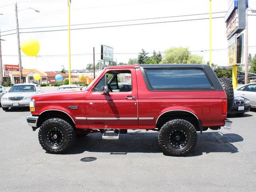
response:
<path id="1" fill-rule="evenodd" d="M 39 42 L 34 38 L 30 38 L 21 42 L 20 48 L 24 54 L 32 57 L 37 56 L 40 50 Z"/>

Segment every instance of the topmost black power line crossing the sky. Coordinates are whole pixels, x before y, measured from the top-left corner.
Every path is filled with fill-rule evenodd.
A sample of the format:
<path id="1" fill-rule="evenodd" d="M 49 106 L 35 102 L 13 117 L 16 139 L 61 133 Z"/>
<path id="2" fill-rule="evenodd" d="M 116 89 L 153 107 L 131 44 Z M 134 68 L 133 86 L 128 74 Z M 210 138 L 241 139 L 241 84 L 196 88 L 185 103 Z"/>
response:
<path id="1" fill-rule="evenodd" d="M 226 13 L 226 11 L 213 12 L 212 14 L 218 14 L 218 13 Z M 198 16 L 198 15 L 208 15 L 208 14 L 209 13 L 199 13 L 199 14 L 187 14 L 187 15 L 177 15 L 177 16 L 152 17 L 152 18 L 131 19 L 131 20 L 118 20 L 118 21 L 106 21 L 106 22 L 96 22 L 96 23 L 72 24 L 70 26 L 104 24 L 104 23 L 115 23 L 115 22 L 128 22 L 128 21 L 139 21 L 139 20 L 152 20 L 152 19 L 163 19 L 163 18 L 175 18 L 175 17 Z M 52 28 L 52 27 L 66 27 L 66 26 L 68 26 L 68 25 L 30 27 L 30 28 L 19 28 L 19 29 L 23 30 L 23 29 L 38 29 L 38 28 Z M 16 29 L 2 31 L 2 32 L 8 32 L 8 31 L 13 31 L 13 30 L 16 30 Z"/>

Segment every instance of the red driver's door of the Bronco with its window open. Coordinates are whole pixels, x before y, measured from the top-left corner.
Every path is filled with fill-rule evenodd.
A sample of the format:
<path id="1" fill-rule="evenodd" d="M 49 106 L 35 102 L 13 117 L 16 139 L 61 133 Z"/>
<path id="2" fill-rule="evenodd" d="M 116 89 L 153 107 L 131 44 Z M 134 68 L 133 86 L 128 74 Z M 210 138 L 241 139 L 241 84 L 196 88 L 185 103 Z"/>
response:
<path id="1" fill-rule="evenodd" d="M 116 82 L 108 82 L 113 88 L 104 102 L 104 124 L 106 128 L 137 129 L 138 128 L 138 90 L 134 68 L 129 70 L 108 70 L 118 78 Z M 130 82 L 127 83 L 127 82 Z"/>

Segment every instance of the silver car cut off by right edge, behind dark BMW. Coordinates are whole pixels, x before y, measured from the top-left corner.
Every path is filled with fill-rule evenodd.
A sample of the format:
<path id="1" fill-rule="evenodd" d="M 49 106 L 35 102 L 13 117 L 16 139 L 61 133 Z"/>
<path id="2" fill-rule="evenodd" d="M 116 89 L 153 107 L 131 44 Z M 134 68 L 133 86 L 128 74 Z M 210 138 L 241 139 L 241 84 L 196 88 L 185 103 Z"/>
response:
<path id="1" fill-rule="evenodd" d="M 234 93 L 250 100 L 251 107 L 256 108 L 256 83 L 249 83 L 237 88 Z"/>

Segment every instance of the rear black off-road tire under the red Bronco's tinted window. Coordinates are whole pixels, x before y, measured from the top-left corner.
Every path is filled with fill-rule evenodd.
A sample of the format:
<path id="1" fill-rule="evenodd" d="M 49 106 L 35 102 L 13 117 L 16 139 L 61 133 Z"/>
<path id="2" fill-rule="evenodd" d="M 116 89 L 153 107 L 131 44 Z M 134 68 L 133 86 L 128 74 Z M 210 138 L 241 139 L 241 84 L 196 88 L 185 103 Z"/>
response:
<path id="1" fill-rule="evenodd" d="M 171 139 L 173 132 L 180 130 L 181 133 L 186 135 L 186 142 L 183 143 L 184 146 L 181 148 L 175 148 L 173 143 L 171 144 Z M 174 119 L 166 122 L 159 131 L 158 142 L 162 151 L 166 155 L 170 156 L 184 156 L 190 153 L 197 142 L 197 133 L 194 126 L 183 119 Z"/>

